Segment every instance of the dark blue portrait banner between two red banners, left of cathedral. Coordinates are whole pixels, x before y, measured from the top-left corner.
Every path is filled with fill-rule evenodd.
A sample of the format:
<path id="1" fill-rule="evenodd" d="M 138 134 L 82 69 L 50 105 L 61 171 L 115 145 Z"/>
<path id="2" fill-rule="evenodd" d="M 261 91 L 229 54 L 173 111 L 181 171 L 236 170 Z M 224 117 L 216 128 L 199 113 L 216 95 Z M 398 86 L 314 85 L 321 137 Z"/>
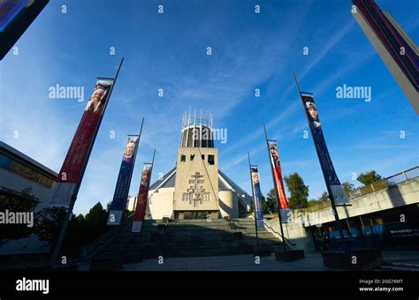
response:
<path id="1" fill-rule="evenodd" d="M 121 168 L 119 169 L 117 186 L 110 203 L 108 225 L 119 225 L 126 209 L 126 199 L 128 199 L 129 187 L 133 176 L 133 166 L 137 154 L 138 142 L 140 137 L 129 136 L 126 141 L 124 154 L 122 155 Z"/>

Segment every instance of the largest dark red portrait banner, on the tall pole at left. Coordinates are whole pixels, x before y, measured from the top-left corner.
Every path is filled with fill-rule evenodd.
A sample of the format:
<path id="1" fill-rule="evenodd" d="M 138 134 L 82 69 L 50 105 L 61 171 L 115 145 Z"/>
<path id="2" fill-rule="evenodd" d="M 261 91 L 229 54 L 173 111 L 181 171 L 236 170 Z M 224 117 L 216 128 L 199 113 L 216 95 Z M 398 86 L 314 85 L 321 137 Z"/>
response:
<path id="1" fill-rule="evenodd" d="M 88 155 L 95 143 L 96 132 L 102 121 L 113 81 L 113 79 L 97 80 L 58 173 L 50 195 L 50 207 L 69 207 L 73 193 L 80 185 L 84 169 L 88 164 Z"/>

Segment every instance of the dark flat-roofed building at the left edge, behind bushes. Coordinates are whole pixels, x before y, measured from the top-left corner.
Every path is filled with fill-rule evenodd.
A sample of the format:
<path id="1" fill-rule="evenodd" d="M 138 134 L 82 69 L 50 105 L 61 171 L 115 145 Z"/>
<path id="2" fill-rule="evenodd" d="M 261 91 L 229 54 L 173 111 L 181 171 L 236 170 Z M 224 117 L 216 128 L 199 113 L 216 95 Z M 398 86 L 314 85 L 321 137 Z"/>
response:
<path id="1" fill-rule="evenodd" d="M 0 141 L 0 212 L 40 214 L 48 206 L 56 177 L 53 170 Z M 0 239 L 0 255 L 50 251 L 34 228 L 30 229 L 33 233 L 21 230 L 19 235 L 15 225 L 0 226 L 7 229 Z"/>

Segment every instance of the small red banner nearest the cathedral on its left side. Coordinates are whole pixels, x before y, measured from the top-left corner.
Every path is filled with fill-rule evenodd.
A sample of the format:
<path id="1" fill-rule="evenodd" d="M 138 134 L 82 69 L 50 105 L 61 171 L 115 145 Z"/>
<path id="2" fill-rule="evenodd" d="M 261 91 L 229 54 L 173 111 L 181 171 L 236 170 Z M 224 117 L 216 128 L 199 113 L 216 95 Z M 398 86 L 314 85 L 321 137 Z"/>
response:
<path id="1" fill-rule="evenodd" d="M 149 184 L 151 178 L 151 163 L 144 163 L 144 168 L 141 172 L 140 191 L 138 191 L 137 203 L 135 205 L 135 213 L 133 214 L 133 228 L 132 232 L 141 232 L 142 221 L 147 209 L 147 200 L 149 198 Z"/>

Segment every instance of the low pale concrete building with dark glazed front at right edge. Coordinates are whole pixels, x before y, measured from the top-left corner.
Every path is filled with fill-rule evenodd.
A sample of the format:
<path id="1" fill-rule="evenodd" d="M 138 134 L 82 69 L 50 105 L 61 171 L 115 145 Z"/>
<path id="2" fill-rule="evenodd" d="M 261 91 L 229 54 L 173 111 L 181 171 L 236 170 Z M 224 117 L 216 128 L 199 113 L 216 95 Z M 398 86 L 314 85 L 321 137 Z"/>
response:
<path id="1" fill-rule="evenodd" d="M 419 167 L 352 192 L 349 206 L 339 206 L 338 214 L 352 249 L 417 249 Z M 278 217 L 265 222 L 279 232 Z M 286 238 L 305 251 L 343 250 L 330 203 L 294 211 L 293 222 L 285 224 L 284 231 Z"/>

